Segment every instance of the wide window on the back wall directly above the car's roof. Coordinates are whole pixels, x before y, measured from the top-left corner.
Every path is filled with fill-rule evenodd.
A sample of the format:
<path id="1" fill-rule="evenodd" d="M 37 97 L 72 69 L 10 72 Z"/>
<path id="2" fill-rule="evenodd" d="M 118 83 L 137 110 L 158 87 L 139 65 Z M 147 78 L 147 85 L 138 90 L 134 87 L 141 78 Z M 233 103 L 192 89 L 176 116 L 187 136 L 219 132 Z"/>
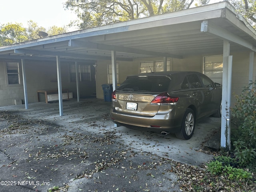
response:
<path id="1" fill-rule="evenodd" d="M 167 71 L 170 71 L 170 60 L 166 61 Z M 151 61 L 140 63 L 140 73 L 164 71 L 164 61 Z"/>

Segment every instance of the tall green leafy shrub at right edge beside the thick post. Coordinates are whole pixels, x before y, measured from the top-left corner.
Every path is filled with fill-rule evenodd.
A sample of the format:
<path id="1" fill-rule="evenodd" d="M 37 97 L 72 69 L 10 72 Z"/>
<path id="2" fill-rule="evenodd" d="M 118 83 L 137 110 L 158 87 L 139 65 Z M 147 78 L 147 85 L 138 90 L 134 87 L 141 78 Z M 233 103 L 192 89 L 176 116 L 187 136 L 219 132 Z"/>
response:
<path id="1" fill-rule="evenodd" d="M 244 88 L 240 96 L 236 95 L 236 104 L 232 114 L 237 118 L 238 128 L 234 131 L 232 143 L 234 154 L 240 166 L 256 164 L 256 82 Z"/>

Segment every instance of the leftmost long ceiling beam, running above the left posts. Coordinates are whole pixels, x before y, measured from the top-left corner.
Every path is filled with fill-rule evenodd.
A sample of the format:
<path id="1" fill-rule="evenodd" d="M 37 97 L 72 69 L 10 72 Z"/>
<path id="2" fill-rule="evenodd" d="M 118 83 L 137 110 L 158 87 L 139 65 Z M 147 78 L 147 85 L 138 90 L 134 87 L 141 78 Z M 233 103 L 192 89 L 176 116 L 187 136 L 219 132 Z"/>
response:
<path id="1" fill-rule="evenodd" d="M 83 58 L 83 59 L 96 59 L 96 60 L 111 60 L 111 57 L 107 56 L 94 56 L 94 55 L 86 55 L 86 54 L 76 54 L 76 53 L 68 53 L 68 52 L 54 52 L 54 51 L 42 51 L 42 50 L 32 50 L 32 49 L 14 49 L 14 53 L 22 53 L 22 54 L 35 54 L 35 55 L 50 55 L 50 56 L 65 56 L 72 58 Z M 116 60 L 120 61 L 132 61 L 130 58 L 116 58 Z"/>

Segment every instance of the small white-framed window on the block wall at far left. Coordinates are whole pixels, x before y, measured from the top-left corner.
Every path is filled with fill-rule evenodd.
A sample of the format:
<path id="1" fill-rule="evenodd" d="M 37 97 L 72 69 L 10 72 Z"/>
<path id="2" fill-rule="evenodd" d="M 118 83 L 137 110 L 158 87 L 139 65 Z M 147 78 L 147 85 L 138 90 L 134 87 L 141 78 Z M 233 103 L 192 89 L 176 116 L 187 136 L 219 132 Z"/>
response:
<path id="1" fill-rule="evenodd" d="M 20 85 L 20 69 L 18 63 L 6 63 L 8 85 Z"/>

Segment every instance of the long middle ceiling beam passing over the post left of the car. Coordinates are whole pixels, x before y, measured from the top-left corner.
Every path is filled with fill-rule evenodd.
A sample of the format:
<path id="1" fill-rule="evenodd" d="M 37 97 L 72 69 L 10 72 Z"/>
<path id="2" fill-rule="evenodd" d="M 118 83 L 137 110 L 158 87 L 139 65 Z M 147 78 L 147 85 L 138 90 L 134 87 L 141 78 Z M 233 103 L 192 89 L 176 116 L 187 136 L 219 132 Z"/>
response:
<path id="1" fill-rule="evenodd" d="M 118 52 L 126 52 L 126 53 L 135 53 L 135 54 L 142 54 L 142 55 L 150 55 L 150 56 L 158 56 L 158 57 L 171 57 L 171 58 L 182 59 L 182 56 L 175 55 L 175 54 L 140 50 L 140 49 L 123 47 L 123 46 L 99 44 L 99 43 L 93 43 L 93 42 L 88 42 L 88 41 L 85 42 L 85 41 L 78 41 L 78 40 L 69 40 L 68 46 L 82 47 L 82 48 L 94 48 L 94 49 L 102 49 L 102 50 L 110 50 L 110 51 L 118 51 Z"/>

